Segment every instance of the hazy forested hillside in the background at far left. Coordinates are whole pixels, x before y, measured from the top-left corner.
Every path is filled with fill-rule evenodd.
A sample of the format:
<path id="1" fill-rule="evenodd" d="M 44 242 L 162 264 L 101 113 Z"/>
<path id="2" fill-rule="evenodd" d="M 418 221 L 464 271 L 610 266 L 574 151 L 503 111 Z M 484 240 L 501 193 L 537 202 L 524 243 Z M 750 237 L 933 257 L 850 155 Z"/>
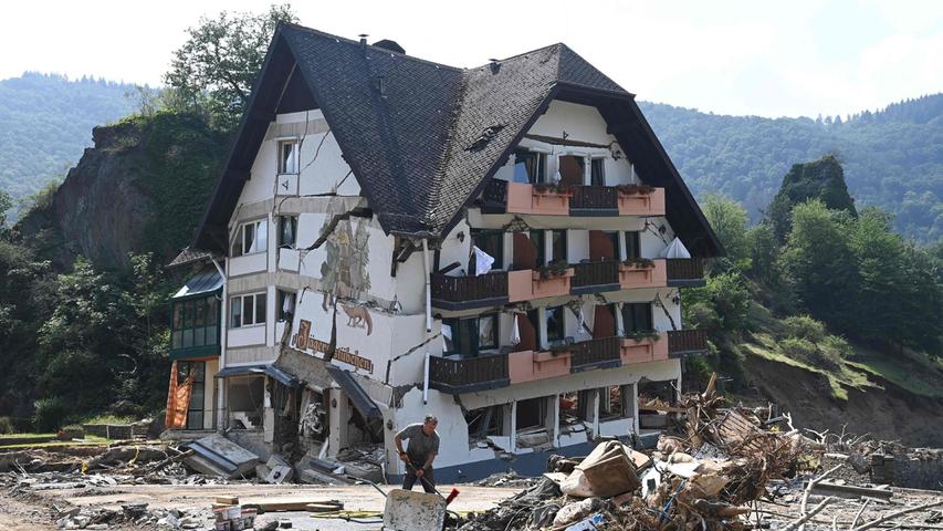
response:
<path id="1" fill-rule="evenodd" d="M 27 72 L 0 81 L 0 190 L 14 199 L 61 179 L 92 145 L 92 127 L 134 110 L 135 86 Z"/>

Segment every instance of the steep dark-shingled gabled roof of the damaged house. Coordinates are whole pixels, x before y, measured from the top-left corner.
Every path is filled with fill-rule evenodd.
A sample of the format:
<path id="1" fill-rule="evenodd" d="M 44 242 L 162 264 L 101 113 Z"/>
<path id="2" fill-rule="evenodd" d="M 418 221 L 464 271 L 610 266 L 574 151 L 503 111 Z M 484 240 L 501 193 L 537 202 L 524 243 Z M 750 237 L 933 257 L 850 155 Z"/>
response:
<path id="1" fill-rule="evenodd" d="M 284 102 L 285 86 L 300 80 L 308 101 Z M 286 112 L 286 106 L 322 110 L 387 232 L 438 238 L 458 221 L 462 207 L 478 196 L 554 98 L 588 98 L 588 104 L 597 106 L 617 102 L 638 108 L 632 94 L 564 44 L 460 70 L 282 24 L 196 246 L 226 249 L 226 223 L 242 183 L 269 122 L 276 112 Z M 643 122 L 640 113 L 637 116 Z M 661 154 L 662 173 L 671 174 L 670 180 L 682 191 L 682 202 L 679 208 L 669 207 L 677 210 L 669 211 L 669 217 L 692 218 L 694 222 L 687 225 L 706 231 L 701 236 L 710 243 L 700 249 L 701 254 L 716 254 L 716 237 L 667 155 Z M 699 250 L 698 246 L 692 250 Z"/>

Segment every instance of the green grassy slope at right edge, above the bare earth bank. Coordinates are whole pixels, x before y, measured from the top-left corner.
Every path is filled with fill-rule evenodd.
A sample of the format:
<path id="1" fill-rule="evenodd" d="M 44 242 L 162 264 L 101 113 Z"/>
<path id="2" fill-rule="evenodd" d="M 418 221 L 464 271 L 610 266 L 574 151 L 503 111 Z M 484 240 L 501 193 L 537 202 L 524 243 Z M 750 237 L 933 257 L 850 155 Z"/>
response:
<path id="1" fill-rule="evenodd" d="M 905 351 L 902 355 L 887 355 L 859 347 L 848 364 L 914 395 L 943 398 L 943 364 L 925 354 Z"/>

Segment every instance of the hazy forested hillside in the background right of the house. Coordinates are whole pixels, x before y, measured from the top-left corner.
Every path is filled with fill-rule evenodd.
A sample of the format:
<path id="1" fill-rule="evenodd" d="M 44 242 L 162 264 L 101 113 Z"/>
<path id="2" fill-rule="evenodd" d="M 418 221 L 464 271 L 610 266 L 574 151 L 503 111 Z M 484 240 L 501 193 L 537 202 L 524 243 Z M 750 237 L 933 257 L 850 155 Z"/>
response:
<path id="1" fill-rule="evenodd" d="M 736 199 L 754 221 L 796 160 L 834 153 L 859 207 L 894 215 L 894 228 L 908 238 L 923 243 L 943 238 L 943 94 L 845 121 L 640 105 L 692 191 Z"/>

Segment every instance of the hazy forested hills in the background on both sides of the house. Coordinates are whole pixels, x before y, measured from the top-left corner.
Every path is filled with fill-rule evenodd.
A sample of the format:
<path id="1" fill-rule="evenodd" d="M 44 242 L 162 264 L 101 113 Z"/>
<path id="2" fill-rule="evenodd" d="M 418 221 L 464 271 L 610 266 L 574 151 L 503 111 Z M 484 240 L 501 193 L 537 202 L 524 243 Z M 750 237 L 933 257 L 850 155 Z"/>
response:
<path id="1" fill-rule="evenodd" d="M 14 199 L 62 177 L 92 127 L 134 111 L 133 85 L 27 73 L 0 81 L 0 190 Z M 943 94 L 851 119 L 722 116 L 641 103 L 695 195 L 721 192 L 759 219 L 792 164 L 835 153 L 859 206 L 895 216 L 905 237 L 943 237 Z"/>

